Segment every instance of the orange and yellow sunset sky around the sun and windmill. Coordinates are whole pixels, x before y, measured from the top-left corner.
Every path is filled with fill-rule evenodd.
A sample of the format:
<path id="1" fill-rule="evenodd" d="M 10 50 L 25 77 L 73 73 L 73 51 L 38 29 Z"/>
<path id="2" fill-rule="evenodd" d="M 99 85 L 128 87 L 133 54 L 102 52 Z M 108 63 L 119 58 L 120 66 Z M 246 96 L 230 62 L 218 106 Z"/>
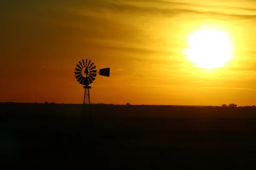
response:
<path id="1" fill-rule="evenodd" d="M 0 10 L 0 102 L 82 103 L 75 66 L 91 59 L 111 68 L 91 84 L 92 103 L 256 105 L 255 0 L 1 0 Z M 226 35 L 224 66 L 184 53 L 202 29 Z M 218 48 L 209 56 L 226 55 Z"/>

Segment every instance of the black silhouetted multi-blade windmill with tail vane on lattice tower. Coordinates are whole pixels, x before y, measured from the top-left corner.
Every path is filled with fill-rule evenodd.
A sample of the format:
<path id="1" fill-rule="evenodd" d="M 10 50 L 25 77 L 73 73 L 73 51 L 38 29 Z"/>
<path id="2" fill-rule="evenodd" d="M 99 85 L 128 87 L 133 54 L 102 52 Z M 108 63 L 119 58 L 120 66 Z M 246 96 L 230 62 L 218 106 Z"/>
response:
<path id="1" fill-rule="evenodd" d="M 83 104 L 90 105 L 90 92 L 89 86 L 95 80 L 97 74 L 101 76 L 109 77 L 110 68 L 102 68 L 99 69 L 99 72 L 96 70 L 96 65 L 91 62 L 90 59 L 82 59 L 79 63 L 76 64 L 75 68 L 75 77 L 76 80 L 81 84 L 84 85 L 84 102 Z"/>

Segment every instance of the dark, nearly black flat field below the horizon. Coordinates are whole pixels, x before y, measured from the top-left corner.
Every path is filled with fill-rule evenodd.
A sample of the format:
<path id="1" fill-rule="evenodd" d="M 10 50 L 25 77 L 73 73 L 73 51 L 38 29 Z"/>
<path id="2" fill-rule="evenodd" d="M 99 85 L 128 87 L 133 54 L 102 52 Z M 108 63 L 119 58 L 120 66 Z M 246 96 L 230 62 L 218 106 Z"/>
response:
<path id="1" fill-rule="evenodd" d="M 10 167 L 251 169 L 256 108 L 0 104 Z M 82 114 L 84 113 L 84 114 Z"/>

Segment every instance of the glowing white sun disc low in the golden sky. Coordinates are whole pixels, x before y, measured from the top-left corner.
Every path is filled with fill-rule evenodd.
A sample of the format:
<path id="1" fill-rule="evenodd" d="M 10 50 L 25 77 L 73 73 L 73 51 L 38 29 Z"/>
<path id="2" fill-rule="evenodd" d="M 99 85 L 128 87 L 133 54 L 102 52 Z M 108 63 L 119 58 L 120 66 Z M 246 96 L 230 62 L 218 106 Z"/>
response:
<path id="1" fill-rule="evenodd" d="M 218 68 L 232 58 L 230 38 L 217 29 L 198 30 L 188 37 L 188 47 L 183 54 L 200 68 Z"/>

